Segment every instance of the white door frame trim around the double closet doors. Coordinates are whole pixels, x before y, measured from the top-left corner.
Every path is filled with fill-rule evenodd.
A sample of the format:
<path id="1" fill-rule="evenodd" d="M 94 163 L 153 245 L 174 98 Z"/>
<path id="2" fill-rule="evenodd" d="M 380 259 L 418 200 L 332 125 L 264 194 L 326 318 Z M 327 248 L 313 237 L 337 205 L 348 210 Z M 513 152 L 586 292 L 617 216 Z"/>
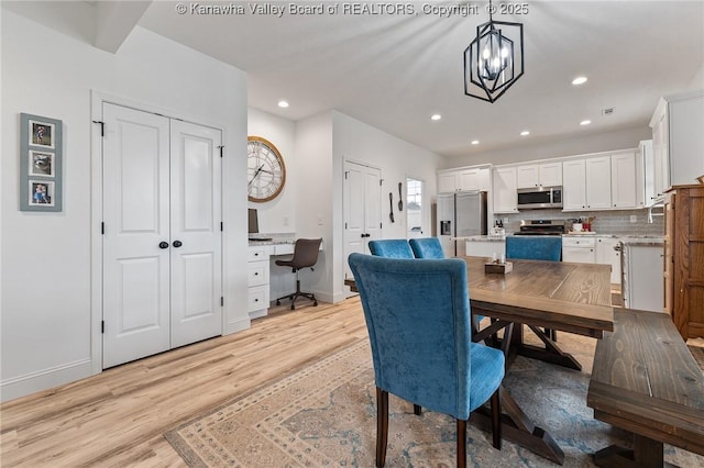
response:
<path id="1" fill-rule="evenodd" d="M 173 109 L 164 109 L 157 105 L 131 100 L 128 98 L 91 90 L 90 91 L 90 120 L 92 121 L 90 131 L 90 360 L 94 375 L 102 372 L 102 129 L 100 120 L 102 118 L 102 103 L 109 102 L 138 111 L 150 112 L 167 116 L 169 119 L 183 120 L 198 125 L 210 126 L 222 132 L 222 142 L 226 140 L 226 125 L 211 122 L 209 119 L 186 115 Z M 224 163 L 224 161 L 223 161 Z M 224 174 L 224 170 L 222 171 Z M 222 177 L 222 175 L 221 175 Z M 221 185 L 220 198 L 222 200 Z M 221 207 L 222 203 L 221 203 Z M 223 210 L 223 208 L 221 208 Z M 223 215 L 223 214 L 222 214 Z M 224 218 L 224 216 L 223 216 Z M 227 250 L 226 236 L 222 236 L 221 257 Z M 221 266 L 222 282 L 224 277 L 224 258 Z M 223 288 L 224 294 L 224 288 Z M 222 332 L 227 325 L 227 313 L 222 313 Z"/>

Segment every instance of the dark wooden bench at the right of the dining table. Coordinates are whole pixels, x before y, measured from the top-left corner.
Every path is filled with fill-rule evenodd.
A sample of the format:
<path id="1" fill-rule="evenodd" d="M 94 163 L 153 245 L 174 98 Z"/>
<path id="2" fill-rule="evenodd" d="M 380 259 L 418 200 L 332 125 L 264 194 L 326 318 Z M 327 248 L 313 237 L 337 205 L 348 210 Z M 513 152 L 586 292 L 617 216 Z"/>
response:
<path id="1" fill-rule="evenodd" d="M 614 309 L 596 344 L 586 404 L 634 433 L 634 448 L 597 452 L 602 467 L 662 467 L 663 443 L 704 455 L 704 378 L 670 315 Z"/>

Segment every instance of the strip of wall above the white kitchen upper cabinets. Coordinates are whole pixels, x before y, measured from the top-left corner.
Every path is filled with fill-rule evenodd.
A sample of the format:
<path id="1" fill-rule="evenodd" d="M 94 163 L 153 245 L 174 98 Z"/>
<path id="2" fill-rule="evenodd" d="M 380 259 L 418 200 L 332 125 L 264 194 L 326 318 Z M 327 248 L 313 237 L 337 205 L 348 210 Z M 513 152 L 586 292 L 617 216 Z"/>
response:
<path id="1" fill-rule="evenodd" d="M 654 111 L 657 102 L 652 104 Z M 464 157 L 446 157 L 441 161 L 441 169 L 453 167 L 474 166 L 479 164 L 512 164 L 553 157 L 583 155 L 588 153 L 610 152 L 638 147 L 641 140 L 652 138 L 652 130 L 647 123 L 636 129 L 618 130 L 595 135 L 585 135 L 579 138 L 564 138 L 549 142 L 530 143 L 526 140 L 524 145 L 498 149 L 495 152 L 479 153 Z"/>

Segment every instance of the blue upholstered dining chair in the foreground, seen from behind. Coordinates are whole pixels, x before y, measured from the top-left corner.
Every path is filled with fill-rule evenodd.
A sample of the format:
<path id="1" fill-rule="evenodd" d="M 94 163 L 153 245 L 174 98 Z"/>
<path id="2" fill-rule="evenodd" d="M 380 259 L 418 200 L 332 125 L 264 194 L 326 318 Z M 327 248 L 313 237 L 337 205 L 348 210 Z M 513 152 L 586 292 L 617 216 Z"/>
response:
<path id="1" fill-rule="evenodd" d="M 466 264 L 351 254 L 376 383 L 376 466 L 386 461 L 388 393 L 457 420 L 458 467 L 466 465 L 466 421 L 491 400 L 501 449 L 504 354 L 472 343 Z"/>

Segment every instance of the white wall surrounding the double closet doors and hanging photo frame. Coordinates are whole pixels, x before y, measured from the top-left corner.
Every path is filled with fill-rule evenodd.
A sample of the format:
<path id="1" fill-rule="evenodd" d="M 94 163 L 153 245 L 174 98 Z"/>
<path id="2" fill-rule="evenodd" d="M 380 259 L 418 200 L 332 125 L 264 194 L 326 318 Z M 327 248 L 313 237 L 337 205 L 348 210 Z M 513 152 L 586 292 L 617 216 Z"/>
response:
<path id="1" fill-rule="evenodd" d="M 86 3 L 88 5 L 88 3 Z M 109 54 L 2 11 L 2 399 L 100 369 L 91 90 L 224 127 L 226 332 L 248 327 L 245 75 L 136 27 Z M 19 211 L 20 112 L 64 122 L 64 211 Z"/>

